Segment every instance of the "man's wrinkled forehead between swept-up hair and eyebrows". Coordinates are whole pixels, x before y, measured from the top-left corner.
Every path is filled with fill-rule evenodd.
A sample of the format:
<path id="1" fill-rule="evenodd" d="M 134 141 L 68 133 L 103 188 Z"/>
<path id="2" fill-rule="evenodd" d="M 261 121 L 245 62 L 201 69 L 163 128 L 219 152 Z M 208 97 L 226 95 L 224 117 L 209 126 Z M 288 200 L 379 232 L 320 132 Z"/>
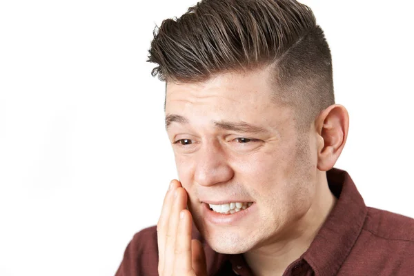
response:
<path id="1" fill-rule="evenodd" d="M 272 98 L 268 69 L 230 72 L 199 83 L 167 83 L 166 115 L 189 121 L 244 121 L 266 124 L 288 115 Z"/>

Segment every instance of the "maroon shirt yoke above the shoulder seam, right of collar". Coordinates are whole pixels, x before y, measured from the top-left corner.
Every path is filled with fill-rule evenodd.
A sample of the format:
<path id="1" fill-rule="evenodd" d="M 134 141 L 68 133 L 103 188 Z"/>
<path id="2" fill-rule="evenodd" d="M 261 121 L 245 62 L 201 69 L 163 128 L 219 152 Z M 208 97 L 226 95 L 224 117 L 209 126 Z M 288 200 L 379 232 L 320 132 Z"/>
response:
<path id="1" fill-rule="evenodd" d="M 386 210 L 368 207 L 362 230 L 380 239 L 391 239 L 414 244 L 414 219 Z"/>

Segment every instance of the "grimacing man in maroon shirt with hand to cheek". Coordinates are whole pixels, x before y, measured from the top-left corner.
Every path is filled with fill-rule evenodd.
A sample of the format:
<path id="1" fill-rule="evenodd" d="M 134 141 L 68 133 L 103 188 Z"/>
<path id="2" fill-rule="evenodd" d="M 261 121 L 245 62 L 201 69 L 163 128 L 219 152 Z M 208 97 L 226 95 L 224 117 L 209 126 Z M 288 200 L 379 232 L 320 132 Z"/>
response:
<path id="1" fill-rule="evenodd" d="M 204 0 L 163 21 L 149 61 L 179 181 L 117 275 L 414 275 L 413 219 L 333 168 L 348 112 L 309 8 Z"/>

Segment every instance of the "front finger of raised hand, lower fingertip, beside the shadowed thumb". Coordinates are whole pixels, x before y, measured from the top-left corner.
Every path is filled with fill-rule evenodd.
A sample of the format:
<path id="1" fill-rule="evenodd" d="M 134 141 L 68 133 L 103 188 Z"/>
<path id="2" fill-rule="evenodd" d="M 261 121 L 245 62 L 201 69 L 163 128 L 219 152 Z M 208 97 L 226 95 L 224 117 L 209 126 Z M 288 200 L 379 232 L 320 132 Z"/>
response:
<path id="1" fill-rule="evenodd" d="M 179 226 L 175 239 L 174 272 L 177 275 L 190 275 L 191 266 L 191 214 L 188 210 L 179 213 Z"/>

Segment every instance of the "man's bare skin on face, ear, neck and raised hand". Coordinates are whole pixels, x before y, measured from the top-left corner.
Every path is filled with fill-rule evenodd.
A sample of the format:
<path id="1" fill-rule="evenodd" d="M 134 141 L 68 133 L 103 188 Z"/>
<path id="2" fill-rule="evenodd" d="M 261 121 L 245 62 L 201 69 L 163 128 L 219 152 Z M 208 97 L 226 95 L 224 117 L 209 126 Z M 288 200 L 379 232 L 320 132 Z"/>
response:
<path id="1" fill-rule="evenodd" d="M 348 112 L 330 106 L 299 134 L 294 110 L 270 101 L 277 91 L 270 74 L 259 68 L 167 83 L 166 116 L 187 122 L 167 129 L 180 181 L 172 181 L 157 224 L 159 275 L 206 275 L 201 244 L 191 241 L 192 221 L 215 251 L 244 253 L 255 275 L 282 275 L 335 206 L 326 170 L 344 148 Z M 242 121 L 264 132 L 217 128 L 213 121 Z M 201 216 L 201 201 L 226 199 L 254 202 L 255 213 L 231 226 Z"/>

